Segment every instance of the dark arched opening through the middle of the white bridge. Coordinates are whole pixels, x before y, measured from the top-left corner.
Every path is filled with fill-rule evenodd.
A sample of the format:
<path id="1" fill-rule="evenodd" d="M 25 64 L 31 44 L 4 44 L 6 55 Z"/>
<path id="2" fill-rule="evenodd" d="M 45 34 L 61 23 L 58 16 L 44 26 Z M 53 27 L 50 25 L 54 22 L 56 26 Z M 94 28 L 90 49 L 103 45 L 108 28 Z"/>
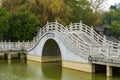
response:
<path id="1" fill-rule="evenodd" d="M 61 62 L 61 51 L 57 42 L 53 39 L 46 41 L 42 51 L 42 62 Z"/>

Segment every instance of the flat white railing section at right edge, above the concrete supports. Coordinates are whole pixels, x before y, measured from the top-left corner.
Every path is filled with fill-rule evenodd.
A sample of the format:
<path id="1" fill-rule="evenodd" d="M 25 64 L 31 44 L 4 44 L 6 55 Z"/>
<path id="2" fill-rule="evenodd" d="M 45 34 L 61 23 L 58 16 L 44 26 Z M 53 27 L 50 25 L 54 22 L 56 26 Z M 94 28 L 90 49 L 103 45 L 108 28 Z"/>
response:
<path id="1" fill-rule="evenodd" d="M 120 63 L 119 46 L 92 46 L 92 60 Z"/>

